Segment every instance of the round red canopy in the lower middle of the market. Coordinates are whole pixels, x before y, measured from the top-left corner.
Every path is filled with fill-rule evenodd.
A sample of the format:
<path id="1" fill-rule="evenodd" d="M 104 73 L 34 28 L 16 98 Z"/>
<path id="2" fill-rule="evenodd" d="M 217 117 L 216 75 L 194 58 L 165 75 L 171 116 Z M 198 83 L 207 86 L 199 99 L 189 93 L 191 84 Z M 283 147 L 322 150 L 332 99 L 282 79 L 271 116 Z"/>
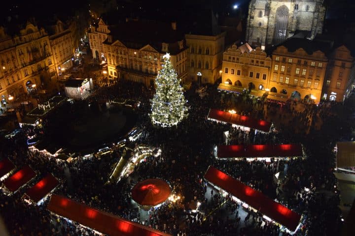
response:
<path id="1" fill-rule="evenodd" d="M 138 182 L 132 189 L 132 198 L 142 206 L 156 206 L 165 202 L 171 193 L 167 182 L 148 178 Z"/>

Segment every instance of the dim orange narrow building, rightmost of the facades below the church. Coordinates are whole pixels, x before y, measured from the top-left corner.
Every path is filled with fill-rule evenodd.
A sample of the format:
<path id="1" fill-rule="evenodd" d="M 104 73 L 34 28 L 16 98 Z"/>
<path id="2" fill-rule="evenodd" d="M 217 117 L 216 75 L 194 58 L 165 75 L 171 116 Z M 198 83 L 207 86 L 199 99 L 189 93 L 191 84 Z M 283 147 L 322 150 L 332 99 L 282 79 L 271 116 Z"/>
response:
<path id="1" fill-rule="evenodd" d="M 351 56 L 350 50 L 342 45 L 332 50 L 328 59 L 322 98 L 342 102 L 346 97 L 346 90 L 350 92 L 352 89 L 348 85 L 351 83 L 352 76 L 354 77 L 352 75 L 354 57 Z"/>

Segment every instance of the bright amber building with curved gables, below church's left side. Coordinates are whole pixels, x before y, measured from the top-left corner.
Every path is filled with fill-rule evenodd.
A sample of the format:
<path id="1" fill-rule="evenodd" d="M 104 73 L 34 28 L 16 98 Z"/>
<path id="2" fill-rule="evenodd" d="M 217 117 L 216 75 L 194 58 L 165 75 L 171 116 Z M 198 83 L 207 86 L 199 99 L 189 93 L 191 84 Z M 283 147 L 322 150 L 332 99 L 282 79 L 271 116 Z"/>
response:
<path id="1" fill-rule="evenodd" d="M 223 53 L 222 83 L 218 89 L 262 96 L 268 87 L 271 58 L 260 48 L 253 50 L 248 43 L 239 48 L 230 46 Z"/>

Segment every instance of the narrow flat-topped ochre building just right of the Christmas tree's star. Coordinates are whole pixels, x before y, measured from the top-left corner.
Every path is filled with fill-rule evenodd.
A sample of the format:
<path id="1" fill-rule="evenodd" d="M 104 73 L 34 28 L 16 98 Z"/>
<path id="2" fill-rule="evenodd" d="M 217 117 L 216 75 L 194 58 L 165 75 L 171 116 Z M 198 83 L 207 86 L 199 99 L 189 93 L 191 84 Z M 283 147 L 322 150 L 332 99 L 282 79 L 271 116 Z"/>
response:
<path id="1" fill-rule="evenodd" d="M 186 34 L 188 78 L 199 85 L 213 84 L 221 76 L 225 32 L 216 35 Z"/>

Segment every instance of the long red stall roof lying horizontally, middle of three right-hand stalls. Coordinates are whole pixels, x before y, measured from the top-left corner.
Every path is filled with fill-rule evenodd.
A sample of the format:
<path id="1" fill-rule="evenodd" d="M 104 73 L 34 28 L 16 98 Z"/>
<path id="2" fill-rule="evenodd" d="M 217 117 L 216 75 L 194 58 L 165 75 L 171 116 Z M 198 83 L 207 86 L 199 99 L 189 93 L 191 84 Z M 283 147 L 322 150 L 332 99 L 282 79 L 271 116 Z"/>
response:
<path id="1" fill-rule="evenodd" d="M 218 158 L 296 156 L 303 156 L 302 145 L 300 144 L 220 145 L 217 147 Z"/>

